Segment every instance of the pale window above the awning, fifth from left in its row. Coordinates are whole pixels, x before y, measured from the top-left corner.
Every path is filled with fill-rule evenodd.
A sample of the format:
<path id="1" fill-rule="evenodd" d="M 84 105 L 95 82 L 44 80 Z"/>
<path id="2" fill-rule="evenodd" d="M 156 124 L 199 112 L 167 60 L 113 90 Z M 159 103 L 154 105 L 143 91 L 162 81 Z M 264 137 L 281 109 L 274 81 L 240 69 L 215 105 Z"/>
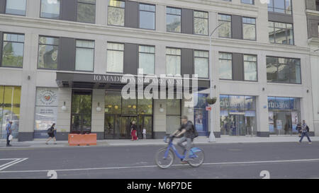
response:
<path id="1" fill-rule="evenodd" d="M 139 69 L 143 69 L 144 74 L 155 74 L 154 46 L 139 46 Z"/>

